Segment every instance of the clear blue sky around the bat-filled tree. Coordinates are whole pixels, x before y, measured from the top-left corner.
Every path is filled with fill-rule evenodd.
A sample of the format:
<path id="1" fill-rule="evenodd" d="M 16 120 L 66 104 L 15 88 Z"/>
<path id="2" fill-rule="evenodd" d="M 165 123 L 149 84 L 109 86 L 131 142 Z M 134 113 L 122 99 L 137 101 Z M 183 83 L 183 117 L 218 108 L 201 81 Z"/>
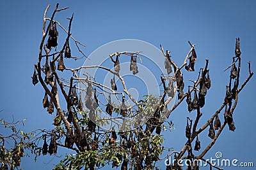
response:
<path id="1" fill-rule="evenodd" d="M 25 129 L 49 129 L 53 115 L 42 108 L 44 91 L 42 87 L 31 83 L 33 64 L 38 59 L 38 49 L 42 38 L 42 17 L 47 4 L 52 11 L 58 1 L 2 1 L 1 2 L 1 99 L 0 117 L 12 120 L 28 118 Z M 237 36 L 241 38 L 241 83 L 248 76 L 248 60 L 252 71 L 256 71 L 255 59 L 255 17 L 256 2 L 237 1 L 60 1 L 60 8 L 70 9 L 58 13 L 56 20 L 67 25 L 65 18 L 74 13 L 72 36 L 86 44 L 84 53 L 109 41 L 134 38 L 147 41 L 159 47 L 159 44 L 172 52 L 173 60 L 180 65 L 189 50 L 188 40 L 197 43 L 198 60 L 196 69 L 203 67 L 205 58 L 209 59 L 212 87 L 207 93 L 204 113 L 199 125 L 205 123 L 214 113 L 225 96 L 229 72 L 223 72 L 232 62 Z M 106 54 L 108 55 L 108 54 Z M 84 60 L 74 66 L 82 65 Z M 185 71 L 184 71 L 185 72 Z M 184 73 L 184 78 L 195 73 Z M 186 83 L 186 82 L 185 82 Z M 241 162 L 254 162 L 255 145 L 255 76 L 239 95 L 238 106 L 234 112 L 236 131 L 222 132 L 211 151 L 205 158 L 215 157 L 221 151 L 225 159 L 238 159 Z M 209 97 L 211 96 L 211 97 Z M 176 130 L 166 134 L 165 146 L 180 150 L 184 146 L 184 127 L 186 103 L 173 111 L 170 117 Z M 220 114 L 223 122 L 223 113 Z M 195 112 L 189 117 L 195 118 Z M 204 133 L 207 136 L 207 132 Z M 210 142 L 209 138 L 200 138 L 202 148 Z M 69 153 L 60 150 L 60 154 Z M 70 152 L 72 153 L 72 152 Z M 51 169 L 58 158 L 39 157 L 36 163 L 23 159 L 20 167 L 24 169 Z M 49 162 L 49 164 L 48 164 Z M 160 164 L 161 168 L 165 167 Z M 201 169 L 208 169 L 201 168 Z M 225 169 L 253 169 L 252 167 L 227 167 Z"/>

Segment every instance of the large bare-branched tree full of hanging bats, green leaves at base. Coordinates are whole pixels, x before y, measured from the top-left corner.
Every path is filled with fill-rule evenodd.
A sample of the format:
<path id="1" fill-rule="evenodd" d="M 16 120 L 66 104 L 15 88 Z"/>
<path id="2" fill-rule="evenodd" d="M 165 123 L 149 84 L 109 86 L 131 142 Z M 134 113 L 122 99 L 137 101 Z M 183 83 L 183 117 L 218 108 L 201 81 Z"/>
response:
<path id="1" fill-rule="evenodd" d="M 207 69 L 209 60 L 206 59 L 205 67 L 199 70 L 197 80 L 192 81 L 191 85 L 188 85 L 188 92 L 184 92 L 182 69 L 185 68 L 187 71 L 195 71 L 195 44 L 189 42 L 191 48 L 181 66 L 177 66 L 171 59 L 170 51 L 166 50 L 165 52 L 163 46 L 161 46 L 165 58 L 163 64 L 167 72 L 167 74 L 159 77 L 161 78 L 164 89 L 163 94 L 159 97 L 147 96 L 141 101 L 136 101 L 127 91 L 125 79 L 119 74 L 120 61 L 122 61 L 120 58 L 123 56 L 131 57 L 130 71 L 132 71 L 132 74 L 136 74 L 138 73 L 136 59 L 141 52 L 116 52 L 110 54 L 109 59 L 113 62 L 114 70 L 103 66 L 81 66 L 74 69 L 66 68 L 64 61 L 67 62 L 68 59 L 78 59 L 72 56 L 69 41 L 71 39 L 75 41 L 77 50 L 79 50 L 82 55 L 84 55 L 84 53 L 80 50 L 79 45 L 83 46 L 83 44 L 79 43 L 79 41 L 71 36 L 70 29 L 73 15 L 71 18 L 68 18 L 68 31 L 64 29 L 60 22 L 54 20 L 56 13 L 66 10 L 67 8 L 58 9 L 57 4 L 51 18 L 46 17 L 48 9 L 49 6 L 47 6 L 44 13 L 43 36 L 40 43 L 38 62 L 35 64 L 33 84 L 36 85 L 36 83 L 40 82 L 40 85 L 44 88 L 44 108 L 47 108 L 49 113 L 53 113 L 54 110 L 56 110 L 56 117 L 54 118 L 56 128 L 42 136 L 41 139 L 51 138 L 49 147 L 47 147 L 45 142 L 42 150 L 44 150 L 44 153 L 46 150 L 49 154 L 54 154 L 57 152 L 57 146 L 61 146 L 70 148 L 76 152 L 76 155 L 66 156 L 65 159 L 61 160 L 60 164 L 58 164 L 55 169 L 82 169 L 84 167 L 85 169 L 95 169 L 95 167 L 104 167 L 110 162 L 112 167 L 121 166 L 121 169 L 127 169 L 128 164 L 132 169 L 156 169 L 155 165 L 157 161 L 170 157 L 173 154 L 176 160 L 186 159 L 193 162 L 196 159 L 200 159 L 206 161 L 207 164 L 210 164 L 210 166 L 216 169 L 221 169 L 205 160 L 204 155 L 211 149 L 212 145 L 214 145 L 216 139 L 218 139 L 227 124 L 230 131 L 236 129 L 232 115 L 237 106 L 238 94 L 253 76 L 250 70 L 250 62 L 248 62 L 249 76 L 239 86 L 241 69 L 239 38 L 236 39 L 236 56 L 233 57 L 232 64 L 227 68 L 229 69 L 231 67 L 230 83 L 226 87 L 227 92 L 225 94 L 224 103 L 216 113 L 213 113 L 209 120 L 198 129 L 197 124 L 202 117 L 200 108 L 204 107 L 207 90 L 211 87 L 211 80 L 209 77 L 209 69 Z M 49 24 L 46 27 L 47 22 Z M 58 36 L 57 25 L 67 32 L 67 38 L 65 38 L 65 42 L 63 46 L 60 47 L 60 50 L 52 52 L 54 47 L 57 49 L 57 47 L 59 48 L 60 46 L 58 45 L 58 39 L 60 39 L 60 37 Z M 48 39 L 46 40 L 47 36 Z M 237 62 L 238 66 L 236 67 Z M 87 75 L 87 78 L 81 78 L 77 75 L 77 72 L 82 69 L 90 69 L 92 67 L 97 67 L 113 74 L 114 78 L 110 80 L 111 87 L 106 87 L 98 83 L 95 81 L 95 78 L 90 75 Z M 72 76 L 68 80 L 67 78 L 61 78 L 60 71 L 65 71 L 65 76 L 67 76 L 67 71 L 70 71 Z M 174 74 L 170 76 L 172 72 Z M 45 77 L 43 78 L 43 76 Z M 122 81 L 123 93 L 116 92 L 115 76 Z M 168 82 L 168 84 L 166 82 Z M 86 88 L 80 88 L 79 83 L 83 83 Z M 77 95 L 77 90 L 85 94 L 84 100 L 81 94 Z M 102 92 L 109 94 L 109 97 L 106 97 L 108 99 L 106 108 L 100 108 L 99 106 L 100 103 L 104 103 L 104 101 L 100 101 L 98 96 L 102 94 Z M 177 103 L 175 103 L 172 108 L 168 108 L 167 104 L 175 98 L 176 93 L 178 95 Z M 194 94 L 193 100 L 191 99 L 191 93 Z M 120 101 L 120 104 L 116 105 L 112 103 L 111 96 L 116 97 L 118 101 Z M 64 107 L 67 106 L 65 110 L 63 110 L 63 105 L 60 104 L 61 97 L 63 97 L 65 101 Z M 134 106 L 125 104 L 127 98 L 131 99 Z M 174 151 L 166 155 L 166 157 L 159 158 L 163 152 L 163 148 L 161 147 L 163 143 L 161 129 L 166 127 L 165 124 L 169 125 L 168 128 L 172 127 L 173 124 L 168 121 L 170 113 L 172 113 L 185 98 L 186 103 L 188 103 L 188 111 L 196 111 L 196 119 L 194 122 L 191 118 L 187 118 L 186 138 L 188 138 L 188 140 L 185 142 L 180 152 Z M 84 107 L 84 105 L 86 107 Z M 224 108 L 225 121 L 221 124 L 218 114 Z M 100 118 L 102 112 L 108 113 L 109 117 L 102 120 Z M 111 117 L 112 113 L 118 114 L 119 117 Z M 132 120 L 135 116 L 140 118 Z M 106 131 L 100 128 L 102 124 L 115 123 L 120 120 L 122 120 L 122 122 L 118 123 L 120 124 L 120 128 L 118 128 L 118 134 L 120 135 L 119 140 L 115 129 L 110 128 Z M 141 120 L 141 122 L 139 120 Z M 135 127 L 131 128 L 131 124 Z M 212 141 L 199 155 L 194 155 L 191 143 L 196 139 L 196 147 L 194 149 L 199 150 L 200 141 L 198 135 L 201 134 L 202 131 L 205 131 L 205 129 L 208 129 L 208 127 L 208 136 Z M 188 153 L 188 156 L 184 156 L 185 153 Z M 191 169 L 191 167 L 198 169 L 198 166 L 193 164 L 188 166 L 188 169 Z M 180 168 L 177 161 L 166 167 L 166 169 Z"/>

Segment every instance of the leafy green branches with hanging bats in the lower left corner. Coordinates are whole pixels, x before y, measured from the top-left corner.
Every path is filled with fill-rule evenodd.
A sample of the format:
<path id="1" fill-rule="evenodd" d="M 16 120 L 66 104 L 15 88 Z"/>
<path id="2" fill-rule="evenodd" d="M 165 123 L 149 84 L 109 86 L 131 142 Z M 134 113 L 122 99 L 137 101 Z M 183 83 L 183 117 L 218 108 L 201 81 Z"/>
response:
<path id="1" fill-rule="evenodd" d="M 19 124 L 24 125 L 25 120 L 6 122 L 1 118 L 0 121 L 0 128 L 7 129 L 5 132 L 1 130 L 0 134 L 0 169 L 19 168 L 21 158 L 26 156 L 25 150 L 40 154 L 40 148 L 35 143 L 37 131 L 26 133 L 17 128 Z"/>

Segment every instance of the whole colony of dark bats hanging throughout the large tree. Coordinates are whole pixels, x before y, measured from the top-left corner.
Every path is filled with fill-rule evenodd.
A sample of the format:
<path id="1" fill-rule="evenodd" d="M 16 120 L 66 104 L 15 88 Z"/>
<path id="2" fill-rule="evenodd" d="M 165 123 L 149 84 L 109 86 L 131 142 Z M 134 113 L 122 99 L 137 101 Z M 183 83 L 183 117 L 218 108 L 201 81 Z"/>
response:
<path id="1" fill-rule="evenodd" d="M 46 43 L 46 48 L 51 49 L 52 47 L 55 47 L 58 45 L 58 31 L 56 27 L 56 23 L 50 22 L 49 24 L 49 34 L 48 34 L 48 39 Z M 65 42 L 65 48 L 64 51 L 61 50 L 59 53 L 59 59 L 58 59 L 58 67 L 57 69 L 59 71 L 63 71 L 65 69 L 65 64 L 64 64 L 64 59 L 63 59 L 63 52 L 64 52 L 64 57 L 65 58 L 71 58 L 71 50 L 70 46 L 68 43 L 68 39 Z M 225 121 L 228 124 L 228 127 L 230 131 L 234 131 L 236 129 L 234 125 L 234 121 L 232 118 L 232 112 L 231 112 L 231 106 L 232 106 L 232 100 L 236 99 L 236 91 L 237 91 L 237 86 L 238 86 L 238 78 L 237 78 L 237 67 L 236 67 L 236 61 L 235 59 L 237 57 L 240 57 L 241 51 L 239 47 L 239 38 L 236 39 L 236 50 L 235 50 L 236 57 L 233 57 L 233 64 L 232 68 L 230 71 L 230 84 L 226 87 L 226 95 L 224 99 L 225 105 L 225 113 L 224 113 L 224 118 Z M 114 62 L 114 69 L 118 73 L 120 71 L 120 60 L 119 60 L 120 55 L 116 55 L 116 59 L 113 60 Z M 132 74 L 137 74 L 138 71 L 138 66 L 137 66 L 137 59 L 138 56 L 131 55 L 131 62 L 130 62 L 130 71 L 132 71 Z M 170 57 L 170 52 L 166 52 L 166 59 L 164 60 L 164 67 L 167 71 L 168 74 L 172 73 L 172 66 L 170 61 L 168 60 L 168 57 Z M 54 59 L 54 55 L 53 55 Z M 185 69 L 187 71 L 195 71 L 195 62 L 196 62 L 196 52 L 195 49 L 191 51 L 191 56 L 189 57 L 189 63 L 186 64 Z M 177 70 L 178 69 L 178 70 Z M 56 78 L 54 78 L 54 73 L 56 72 L 56 66 L 54 62 L 48 61 L 48 56 L 46 56 L 45 59 L 45 65 L 44 68 L 42 69 L 42 72 L 45 74 L 45 79 L 44 82 L 47 85 L 51 85 L 51 93 L 55 96 L 57 94 L 58 88 L 57 88 L 57 82 Z M 177 92 L 178 92 L 178 99 L 181 99 L 184 96 L 184 79 L 183 79 L 183 74 L 181 73 L 179 68 L 174 67 L 174 72 L 175 75 L 173 79 L 171 79 L 166 87 L 166 94 L 169 97 L 174 97 L 175 96 L 175 90 L 173 87 L 173 81 L 177 82 Z M 36 66 L 35 70 L 32 76 L 32 83 L 33 85 L 36 85 L 38 83 L 38 74 L 36 73 Z M 233 88 L 231 87 L 232 81 L 234 80 L 234 85 Z M 81 134 L 78 134 L 76 128 L 71 128 L 70 131 L 67 131 L 65 134 L 65 146 L 67 148 L 72 148 L 74 143 L 76 143 L 79 146 L 79 149 L 81 151 L 85 150 L 98 150 L 99 149 L 99 134 L 95 131 L 96 129 L 96 116 L 95 116 L 95 110 L 99 107 L 99 101 L 97 99 L 97 94 L 96 94 L 96 89 L 93 89 L 92 83 L 88 82 L 88 87 L 86 88 L 86 96 L 84 97 L 84 103 L 83 99 L 81 98 L 81 94 L 79 94 L 79 97 L 77 96 L 76 92 L 76 86 L 71 87 L 72 90 L 70 94 L 68 95 L 68 114 L 67 114 L 67 120 L 68 122 L 72 123 L 74 120 L 74 113 L 76 113 L 76 109 L 78 111 L 82 111 L 84 109 L 84 105 L 86 108 L 89 110 L 89 120 L 87 122 L 87 128 L 84 129 L 82 127 Z M 113 78 L 110 81 L 111 83 L 111 89 L 112 90 L 117 90 L 116 87 L 116 81 L 115 81 L 115 74 Z M 186 103 L 188 104 L 188 111 L 191 112 L 193 110 L 198 110 L 199 108 L 204 107 L 205 105 L 205 96 L 207 94 L 207 90 L 210 89 L 211 87 L 211 79 L 209 76 L 209 70 L 202 70 L 202 76 L 200 78 L 200 88 L 197 89 L 194 84 L 194 96 L 193 99 L 191 98 L 191 92 L 188 87 L 188 95 L 186 98 Z M 44 108 L 47 108 L 48 113 L 53 113 L 54 112 L 54 104 L 52 99 L 48 99 L 47 92 L 45 92 L 45 96 L 43 99 L 43 106 Z M 76 108 L 76 109 L 75 109 Z M 110 116 L 113 113 L 113 110 L 115 108 L 113 107 L 113 104 L 111 103 L 111 96 L 109 95 L 108 97 L 108 103 L 106 104 L 106 113 L 108 113 Z M 146 129 L 145 132 L 146 134 L 150 135 L 152 132 L 156 129 L 156 134 L 161 133 L 161 124 L 163 122 L 159 122 L 160 118 L 160 113 L 168 111 L 166 106 L 163 106 L 161 108 L 158 108 L 158 110 L 154 113 L 154 115 L 147 121 L 146 123 Z M 120 115 L 123 117 L 127 117 L 127 106 L 125 106 L 125 97 L 122 97 L 122 104 L 120 105 Z M 60 125 L 61 121 L 55 121 L 54 120 L 54 125 Z M 125 121 L 123 123 L 125 125 Z M 192 146 L 191 146 L 191 125 L 192 125 L 192 120 L 188 117 L 187 118 L 187 125 L 186 125 L 186 138 L 188 138 L 188 141 L 186 143 L 186 150 L 188 151 L 188 159 L 192 160 L 194 155 L 192 153 Z M 215 137 L 215 130 L 220 129 L 221 127 L 221 122 L 220 118 L 218 117 L 218 114 L 215 116 L 214 122 L 209 122 L 209 138 L 214 139 Z M 142 127 L 141 127 L 142 129 Z M 140 129 L 140 131 L 141 131 Z M 88 136 L 86 136 L 86 130 L 90 132 L 94 132 L 94 138 L 88 139 Z M 135 145 L 136 145 L 136 139 L 135 136 L 133 136 L 132 131 L 127 132 L 122 132 L 120 131 L 118 133 L 120 135 L 120 145 L 124 146 L 124 148 L 129 149 L 131 151 L 131 158 L 136 159 L 136 168 L 137 169 L 142 169 L 143 166 L 143 161 L 147 166 L 152 164 L 153 161 L 158 160 L 158 156 L 154 155 L 155 149 L 153 146 L 150 148 L 148 145 L 147 148 L 147 154 L 145 157 L 143 157 L 142 153 L 139 152 Z M 129 138 L 128 135 L 129 134 Z M 142 138 L 140 134 L 136 134 L 138 141 Z M 111 131 L 111 138 L 108 138 L 108 143 L 110 146 L 115 145 L 117 139 L 117 135 L 114 129 Z M 50 155 L 55 154 L 57 152 L 57 144 L 56 144 L 56 137 L 54 134 L 51 135 L 51 141 L 50 144 L 47 144 L 47 138 L 44 136 L 44 145 L 42 146 L 42 154 L 46 155 L 49 153 Z M 198 151 L 200 150 L 200 141 L 198 139 L 198 136 L 196 136 L 196 141 L 195 141 L 195 146 L 194 150 Z M 13 160 L 17 160 L 19 162 L 20 160 L 20 154 L 14 154 Z M 118 157 L 119 160 L 122 160 L 122 166 L 121 169 L 127 169 L 127 164 L 128 160 L 123 159 L 122 155 L 119 153 L 116 153 L 116 157 Z M 174 157 L 176 160 L 178 160 L 178 156 L 175 154 Z M 90 167 L 93 168 L 94 164 L 90 164 Z M 112 167 L 118 167 L 120 166 L 120 162 L 113 161 Z M 182 169 L 182 167 L 179 167 L 177 162 L 174 162 L 171 166 L 167 166 L 166 170 L 168 169 Z M 188 169 L 199 169 L 198 166 L 192 166 L 189 165 Z"/>

